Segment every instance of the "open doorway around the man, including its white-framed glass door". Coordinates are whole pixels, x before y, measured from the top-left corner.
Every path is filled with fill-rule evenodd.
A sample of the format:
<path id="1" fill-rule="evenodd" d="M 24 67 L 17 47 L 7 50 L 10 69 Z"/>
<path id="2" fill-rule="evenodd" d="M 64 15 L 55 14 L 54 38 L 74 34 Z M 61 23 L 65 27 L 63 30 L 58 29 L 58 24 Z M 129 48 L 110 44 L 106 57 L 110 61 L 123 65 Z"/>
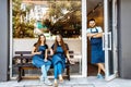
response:
<path id="1" fill-rule="evenodd" d="M 94 3 L 94 5 L 92 5 L 92 3 Z M 118 73 L 117 0 L 87 0 L 87 18 L 95 18 L 97 23 L 96 26 L 100 26 L 104 32 L 105 79 L 110 80 L 115 78 Z M 90 40 L 87 40 L 87 70 L 88 76 L 96 76 L 97 66 L 91 64 Z"/>

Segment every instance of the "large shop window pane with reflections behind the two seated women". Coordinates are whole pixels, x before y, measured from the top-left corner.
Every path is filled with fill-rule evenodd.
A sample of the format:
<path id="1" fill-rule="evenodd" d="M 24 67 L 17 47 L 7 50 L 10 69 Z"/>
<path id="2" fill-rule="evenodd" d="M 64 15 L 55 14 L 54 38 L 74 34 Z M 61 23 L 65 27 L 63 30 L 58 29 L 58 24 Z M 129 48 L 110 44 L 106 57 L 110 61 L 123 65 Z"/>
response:
<path id="1" fill-rule="evenodd" d="M 13 53 L 31 51 L 39 34 L 44 34 L 50 48 L 57 34 L 61 34 L 70 50 L 74 51 L 71 75 L 81 75 L 81 0 L 12 0 L 13 11 Z M 19 38 L 19 39 L 17 39 Z M 15 54 L 13 54 L 14 57 Z M 13 65 L 17 60 L 13 60 Z M 12 69 L 12 75 L 17 75 L 17 69 Z M 26 70 L 25 75 L 40 75 L 40 71 Z M 53 75 L 53 70 L 50 70 Z"/>

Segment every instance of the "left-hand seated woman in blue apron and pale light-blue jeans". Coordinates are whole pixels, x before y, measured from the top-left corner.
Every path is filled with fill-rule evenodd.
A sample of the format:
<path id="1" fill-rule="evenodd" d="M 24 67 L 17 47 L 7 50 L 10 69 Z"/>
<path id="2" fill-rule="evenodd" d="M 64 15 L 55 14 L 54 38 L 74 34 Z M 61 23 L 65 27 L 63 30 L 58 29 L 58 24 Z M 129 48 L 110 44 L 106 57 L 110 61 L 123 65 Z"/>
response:
<path id="1" fill-rule="evenodd" d="M 46 37 L 41 34 L 39 35 L 38 40 L 32 50 L 33 64 L 36 67 L 41 69 L 40 80 L 43 80 L 46 85 L 51 85 L 50 80 L 47 77 L 47 72 L 51 65 L 51 62 L 47 60 L 47 51 L 48 46 L 46 45 Z"/>

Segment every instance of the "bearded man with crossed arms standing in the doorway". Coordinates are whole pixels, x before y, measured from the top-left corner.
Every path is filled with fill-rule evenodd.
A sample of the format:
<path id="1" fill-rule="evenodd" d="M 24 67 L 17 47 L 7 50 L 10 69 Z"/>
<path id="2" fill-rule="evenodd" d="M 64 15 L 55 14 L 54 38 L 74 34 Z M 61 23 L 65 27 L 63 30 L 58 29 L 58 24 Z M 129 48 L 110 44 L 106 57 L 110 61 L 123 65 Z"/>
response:
<path id="1" fill-rule="evenodd" d="M 97 78 L 103 78 L 102 72 L 105 73 L 105 53 L 103 51 L 103 29 L 102 27 L 95 26 L 95 20 L 90 20 L 90 28 L 87 29 L 87 37 L 91 42 L 92 48 L 92 64 L 98 66 Z"/>

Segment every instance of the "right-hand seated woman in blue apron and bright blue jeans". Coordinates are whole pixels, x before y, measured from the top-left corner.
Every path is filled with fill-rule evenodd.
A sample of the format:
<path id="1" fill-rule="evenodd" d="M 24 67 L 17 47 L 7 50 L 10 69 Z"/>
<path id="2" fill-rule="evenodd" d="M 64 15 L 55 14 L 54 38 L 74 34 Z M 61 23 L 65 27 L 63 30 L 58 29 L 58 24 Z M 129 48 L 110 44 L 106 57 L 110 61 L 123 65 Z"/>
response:
<path id="1" fill-rule="evenodd" d="M 69 55 L 69 48 L 68 45 L 64 44 L 61 35 L 56 36 L 55 44 L 51 47 L 51 54 L 52 54 L 52 64 L 53 64 L 53 73 L 55 73 L 55 86 L 58 86 L 57 78 L 59 76 L 60 83 L 63 82 L 62 78 L 62 70 L 66 67 L 66 58 L 71 62 Z"/>

